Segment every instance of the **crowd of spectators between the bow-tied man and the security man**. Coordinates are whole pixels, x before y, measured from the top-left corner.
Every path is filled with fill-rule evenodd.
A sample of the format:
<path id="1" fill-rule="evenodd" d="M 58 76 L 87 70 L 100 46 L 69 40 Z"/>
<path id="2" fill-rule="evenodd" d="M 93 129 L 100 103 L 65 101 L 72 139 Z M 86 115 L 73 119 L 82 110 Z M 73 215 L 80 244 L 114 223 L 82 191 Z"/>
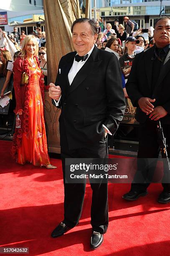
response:
<path id="1" fill-rule="evenodd" d="M 124 17 L 124 25 L 115 20 L 114 26 L 112 27 L 111 23 L 107 23 L 103 32 L 101 32 L 99 21 L 96 21 L 96 26 L 98 28 L 96 46 L 99 49 L 112 52 L 119 59 L 124 96 L 128 97 L 125 84 L 133 59 L 136 54 L 154 46 L 153 29 L 148 28 L 144 37 L 143 29 L 138 29 L 138 24 L 134 20 L 129 20 L 127 16 Z"/>

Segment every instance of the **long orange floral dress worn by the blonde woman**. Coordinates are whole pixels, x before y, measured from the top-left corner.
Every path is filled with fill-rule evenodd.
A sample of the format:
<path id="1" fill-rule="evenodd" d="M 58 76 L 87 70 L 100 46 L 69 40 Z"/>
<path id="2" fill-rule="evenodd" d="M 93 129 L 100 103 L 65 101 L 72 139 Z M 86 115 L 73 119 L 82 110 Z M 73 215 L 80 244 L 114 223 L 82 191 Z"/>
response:
<path id="1" fill-rule="evenodd" d="M 50 159 L 44 123 L 42 88 L 40 87 L 42 72 L 35 58 L 33 63 L 27 59 L 29 83 L 18 88 L 15 84 L 17 67 L 16 64 L 14 67 L 14 89 L 15 95 L 20 89 L 21 107 L 16 108 L 15 113 L 23 110 L 23 114 L 20 115 L 21 128 L 15 128 L 12 153 L 19 164 L 30 162 L 33 165 L 46 166 L 50 164 Z"/>

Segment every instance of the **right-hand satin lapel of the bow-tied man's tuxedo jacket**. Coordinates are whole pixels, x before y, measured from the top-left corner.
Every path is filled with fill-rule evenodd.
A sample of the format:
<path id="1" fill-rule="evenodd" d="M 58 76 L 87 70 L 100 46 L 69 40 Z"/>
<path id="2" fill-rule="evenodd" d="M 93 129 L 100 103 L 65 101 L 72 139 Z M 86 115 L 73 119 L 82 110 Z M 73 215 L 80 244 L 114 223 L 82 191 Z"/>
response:
<path id="1" fill-rule="evenodd" d="M 93 71 L 94 67 L 96 69 L 100 63 L 101 61 L 99 60 L 99 49 L 94 46 L 94 49 L 90 54 L 89 58 L 87 59 L 86 63 L 74 77 L 71 86 L 69 86 L 67 95 L 73 92 L 84 81 L 84 79 L 89 76 L 89 74 Z"/>

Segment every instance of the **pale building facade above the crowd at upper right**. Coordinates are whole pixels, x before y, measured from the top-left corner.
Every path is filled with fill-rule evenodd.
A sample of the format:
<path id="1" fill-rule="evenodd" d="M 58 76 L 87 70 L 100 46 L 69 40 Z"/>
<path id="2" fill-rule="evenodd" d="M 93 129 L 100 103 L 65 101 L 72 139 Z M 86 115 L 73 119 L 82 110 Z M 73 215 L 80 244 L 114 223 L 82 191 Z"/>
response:
<path id="1" fill-rule="evenodd" d="M 99 2 L 99 16 L 104 23 L 114 23 L 119 20 L 123 23 L 123 17 L 135 20 L 140 28 L 154 26 L 160 15 L 170 15 L 170 0 L 108 0 L 108 5 Z M 101 6 L 100 6 L 101 5 Z"/>

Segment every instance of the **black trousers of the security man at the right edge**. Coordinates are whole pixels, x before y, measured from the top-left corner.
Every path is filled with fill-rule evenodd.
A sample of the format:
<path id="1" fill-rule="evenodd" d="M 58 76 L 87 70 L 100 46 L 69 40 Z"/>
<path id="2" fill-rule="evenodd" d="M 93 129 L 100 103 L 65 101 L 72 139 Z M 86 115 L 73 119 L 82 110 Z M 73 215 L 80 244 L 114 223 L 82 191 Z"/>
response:
<path id="1" fill-rule="evenodd" d="M 168 157 L 170 157 L 170 125 L 162 125 L 162 129 L 166 138 L 167 154 Z M 146 191 L 154 176 L 159 152 L 160 146 L 157 139 L 157 122 L 148 120 L 147 122 L 140 124 L 139 128 L 137 172 L 131 185 L 132 191 Z M 155 160 L 152 161 L 152 158 Z M 164 168 L 164 177 L 165 172 L 167 172 L 167 168 L 166 170 Z M 166 183 L 164 177 L 162 179 L 163 191 L 170 192 L 170 183 Z M 139 180 L 141 180 L 141 183 Z"/>

